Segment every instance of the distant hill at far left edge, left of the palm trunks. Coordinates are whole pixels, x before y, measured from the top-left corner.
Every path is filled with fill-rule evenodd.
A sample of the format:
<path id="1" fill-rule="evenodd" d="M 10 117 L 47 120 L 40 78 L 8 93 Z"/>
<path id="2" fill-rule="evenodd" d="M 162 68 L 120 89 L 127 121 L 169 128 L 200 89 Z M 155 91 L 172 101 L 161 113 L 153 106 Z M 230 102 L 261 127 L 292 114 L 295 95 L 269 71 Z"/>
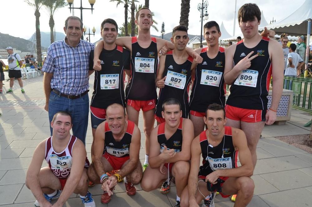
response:
<path id="1" fill-rule="evenodd" d="M 12 48 L 16 48 L 22 52 L 30 52 L 31 45 L 32 42 L 26 39 L 0 33 L 0 48 L 5 49 L 8 46 L 11 46 Z"/>

